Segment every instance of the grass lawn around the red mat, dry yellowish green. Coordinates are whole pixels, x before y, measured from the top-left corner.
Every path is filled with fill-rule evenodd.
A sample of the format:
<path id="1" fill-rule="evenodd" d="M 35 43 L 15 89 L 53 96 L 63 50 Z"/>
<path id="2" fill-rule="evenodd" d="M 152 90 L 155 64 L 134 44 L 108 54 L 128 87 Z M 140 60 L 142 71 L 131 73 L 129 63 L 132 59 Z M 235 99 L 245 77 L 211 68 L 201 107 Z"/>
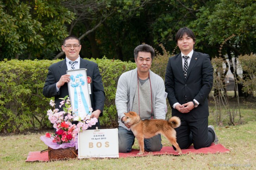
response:
<path id="1" fill-rule="evenodd" d="M 39 139 L 44 132 L 26 135 L 0 136 L 0 169 L 256 169 L 256 109 L 242 111 L 242 125 L 216 127 L 210 115 L 209 124 L 215 125 L 219 143 L 230 150 L 220 154 L 161 155 L 132 158 L 90 158 L 65 161 L 26 163 L 29 151 L 40 151 L 47 146 Z M 133 148 L 138 149 L 135 140 Z M 162 137 L 163 146 L 170 144 Z M 232 165 L 232 166 L 231 166 Z"/>

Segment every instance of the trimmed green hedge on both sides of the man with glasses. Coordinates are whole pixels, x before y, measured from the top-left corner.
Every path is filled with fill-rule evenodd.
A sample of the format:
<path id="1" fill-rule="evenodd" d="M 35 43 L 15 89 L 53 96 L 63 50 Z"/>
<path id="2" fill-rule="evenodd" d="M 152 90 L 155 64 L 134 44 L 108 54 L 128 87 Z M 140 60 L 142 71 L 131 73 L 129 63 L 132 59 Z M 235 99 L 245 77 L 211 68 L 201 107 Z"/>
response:
<path id="1" fill-rule="evenodd" d="M 116 127 L 115 93 L 119 76 L 136 68 L 132 62 L 88 59 L 98 64 L 106 94 L 101 125 Z M 52 127 L 46 111 L 50 98 L 43 96 L 48 67 L 60 60 L 5 60 L 0 62 L 0 131 Z"/>

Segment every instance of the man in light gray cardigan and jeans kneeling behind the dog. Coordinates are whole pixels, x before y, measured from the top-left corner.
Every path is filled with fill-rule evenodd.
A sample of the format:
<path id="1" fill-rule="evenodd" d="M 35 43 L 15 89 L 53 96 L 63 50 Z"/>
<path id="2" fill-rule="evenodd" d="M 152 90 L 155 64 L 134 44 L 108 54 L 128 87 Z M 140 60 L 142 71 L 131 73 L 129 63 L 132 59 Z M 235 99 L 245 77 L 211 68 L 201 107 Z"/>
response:
<path id="1" fill-rule="evenodd" d="M 124 113 L 135 111 L 142 120 L 154 118 L 165 120 L 164 80 L 150 70 L 154 55 L 151 46 L 146 44 L 137 46 L 134 49 L 137 68 L 123 73 L 119 78 L 115 99 L 119 122 L 119 152 L 130 152 L 135 139 L 130 127 L 122 123 Z M 162 149 L 160 134 L 145 139 L 144 146 L 149 152 L 160 151 Z"/>

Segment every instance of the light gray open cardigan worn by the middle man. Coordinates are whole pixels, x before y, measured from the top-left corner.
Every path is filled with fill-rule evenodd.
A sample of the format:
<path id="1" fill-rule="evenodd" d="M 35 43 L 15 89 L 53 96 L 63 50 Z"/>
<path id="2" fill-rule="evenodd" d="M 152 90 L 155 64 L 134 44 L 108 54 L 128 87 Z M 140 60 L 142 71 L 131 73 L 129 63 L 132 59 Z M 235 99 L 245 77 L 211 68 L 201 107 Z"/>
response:
<path id="1" fill-rule="evenodd" d="M 166 98 L 164 80 L 157 74 L 149 70 L 149 77 L 152 88 L 152 105 L 154 117 L 156 119 L 164 119 L 166 115 Z M 121 118 L 124 113 L 131 111 L 135 91 L 137 88 L 137 68 L 123 73 L 117 84 L 116 89 L 116 109 L 118 114 L 119 126 L 128 129 L 122 122 Z"/>

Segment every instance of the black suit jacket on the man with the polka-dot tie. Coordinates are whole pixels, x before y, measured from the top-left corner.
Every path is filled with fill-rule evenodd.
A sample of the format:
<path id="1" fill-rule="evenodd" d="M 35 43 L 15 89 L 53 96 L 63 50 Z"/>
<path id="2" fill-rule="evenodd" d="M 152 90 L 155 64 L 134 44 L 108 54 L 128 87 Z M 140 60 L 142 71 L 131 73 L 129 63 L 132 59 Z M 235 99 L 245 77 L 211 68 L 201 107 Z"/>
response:
<path id="1" fill-rule="evenodd" d="M 197 108 L 189 113 L 194 118 L 209 116 L 208 100 L 213 84 L 213 68 L 208 54 L 193 52 L 185 79 L 183 73 L 181 54 L 170 57 L 165 74 L 165 88 L 171 106 L 193 101 L 199 102 Z M 188 114 L 189 114 L 188 113 Z M 172 107 L 172 116 L 182 117 L 184 114 Z"/>

